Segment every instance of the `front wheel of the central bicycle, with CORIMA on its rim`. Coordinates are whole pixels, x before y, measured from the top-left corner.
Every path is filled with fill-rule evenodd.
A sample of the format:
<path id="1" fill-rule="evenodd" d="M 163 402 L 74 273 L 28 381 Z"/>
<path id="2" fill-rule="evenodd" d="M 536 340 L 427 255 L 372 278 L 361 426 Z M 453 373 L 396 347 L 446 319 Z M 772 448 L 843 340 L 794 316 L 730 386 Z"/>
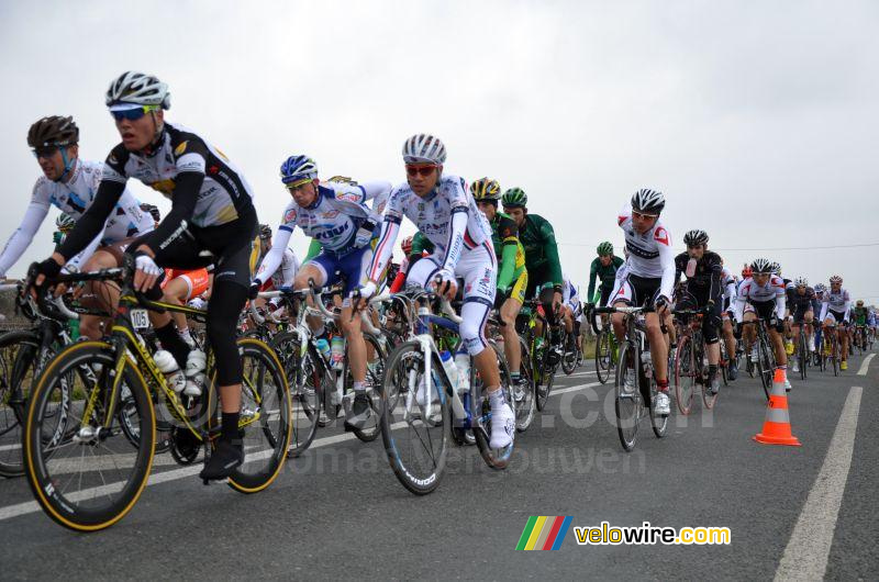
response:
<path id="1" fill-rule="evenodd" d="M 432 359 L 432 365 L 439 365 Z M 433 374 L 432 374 L 433 376 Z M 424 380 L 424 355 L 418 342 L 405 342 L 388 356 L 380 385 L 381 440 L 393 474 L 402 485 L 425 495 L 439 484 L 446 466 L 449 411 L 445 387 L 427 379 L 435 401 L 424 414 L 416 401 Z"/>

